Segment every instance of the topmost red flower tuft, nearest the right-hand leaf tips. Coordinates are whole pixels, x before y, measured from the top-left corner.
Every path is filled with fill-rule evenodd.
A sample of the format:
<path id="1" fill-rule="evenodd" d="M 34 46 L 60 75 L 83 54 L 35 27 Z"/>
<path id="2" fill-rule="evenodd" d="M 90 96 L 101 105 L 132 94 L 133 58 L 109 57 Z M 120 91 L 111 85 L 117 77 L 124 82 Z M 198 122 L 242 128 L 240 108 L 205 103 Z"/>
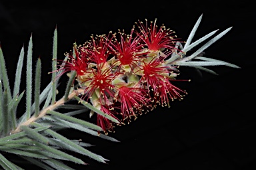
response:
<path id="1" fill-rule="evenodd" d="M 166 29 L 164 25 L 158 29 L 157 25 L 155 25 L 156 21 L 157 19 L 155 19 L 154 23 L 151 21 L 150 28 L 147 27 L 147 20 L 145 25 L 141 21 L 139 21 L 139 24 L 136 23 L 141 31 L 137 35 L 141 35 L 141 39 L 151 51 L 161 51 L 163 48 L 173 50 L 177 42 L 176 36 L 173 35 L 175 32 Z"/>

